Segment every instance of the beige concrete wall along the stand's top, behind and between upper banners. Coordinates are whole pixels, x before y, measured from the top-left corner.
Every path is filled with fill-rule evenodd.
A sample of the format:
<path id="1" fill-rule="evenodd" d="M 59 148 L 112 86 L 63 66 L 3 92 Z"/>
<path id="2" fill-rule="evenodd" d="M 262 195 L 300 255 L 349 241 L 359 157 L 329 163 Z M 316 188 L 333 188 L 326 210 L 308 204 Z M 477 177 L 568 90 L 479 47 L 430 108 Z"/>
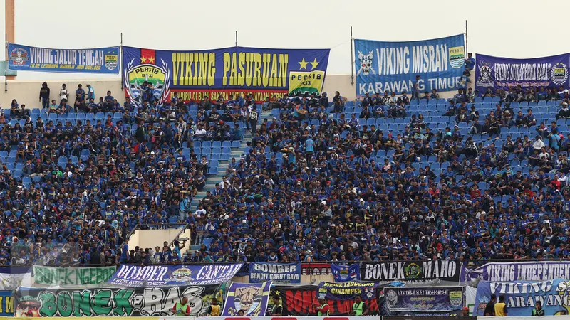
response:
<path id="1" fill-rule="evenodd" d="M 475 81 L 474 74 L 475 73 L 472 73 L 472 83 Z M 38 80 L 9 80 L 8 92 L 1 90 L 0 107 L 8 108 L 11 104 L 12 99 L 16 99 L 20 105 L 23 103 L 28 108 L 40 108 L 41 102 L 39 101 L 39 90 L 41 88 L 42 82 L 43 81 Z M 87 84 L 93 86 L 95 89 L 95 95 L 97 97 L 103 97 L 106 95 L 107 90 L 111 90 L 111 95 L 117 98 L 121 104 L 125 101 L 125 95 L 120 90 L 119 79 L 49 80 L 48 87 L 51 89 L 52 99 L 58 100 L 59 90 L 61 89 L 61 85 L 63 83 L 67 85 L 71 96 L 75 94 L 77 85 L 81 83 L 81 85 L 83 85 L 83 89 L 85 90 L 87 88 Z M 341 95 L 343 97 L 346 97 L 348 100 L 354 100 L 356 98 L 356 82 L 355 85 L 351 85 L 351 75 L 326 75 L 323 92 L 327 92 L 329 97 L 333 97 L 335 91 L 341 92 Z M 455 95 L 455 91 L 440 92 L 440 97 L 443 98 L 453 97 L 453 95 Z"/>

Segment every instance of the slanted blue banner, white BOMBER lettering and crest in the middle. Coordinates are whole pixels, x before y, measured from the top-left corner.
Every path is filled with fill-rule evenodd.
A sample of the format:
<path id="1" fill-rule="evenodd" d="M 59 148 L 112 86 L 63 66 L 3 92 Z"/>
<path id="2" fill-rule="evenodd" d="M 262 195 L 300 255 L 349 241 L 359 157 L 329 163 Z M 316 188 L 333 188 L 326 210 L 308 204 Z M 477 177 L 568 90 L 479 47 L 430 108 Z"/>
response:
<path id="1" fill-rule="evenodd" d="M 125 287 L 168 287 L 228 282 L 243 263 L 231 265 L 121 265 L 108 281 Z"/>

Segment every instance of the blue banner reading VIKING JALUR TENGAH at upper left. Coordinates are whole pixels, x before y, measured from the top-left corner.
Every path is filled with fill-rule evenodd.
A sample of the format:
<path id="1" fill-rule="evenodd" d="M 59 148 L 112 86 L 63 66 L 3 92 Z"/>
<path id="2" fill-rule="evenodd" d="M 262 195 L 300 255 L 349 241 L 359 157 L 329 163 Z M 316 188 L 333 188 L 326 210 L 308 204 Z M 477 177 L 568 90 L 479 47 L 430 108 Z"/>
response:
<path id="1" fill-rule="evenodd" d="M 53 73 L 119 73 L 119 47 L 53 49 L 8 43 L 8 68 Z"/>

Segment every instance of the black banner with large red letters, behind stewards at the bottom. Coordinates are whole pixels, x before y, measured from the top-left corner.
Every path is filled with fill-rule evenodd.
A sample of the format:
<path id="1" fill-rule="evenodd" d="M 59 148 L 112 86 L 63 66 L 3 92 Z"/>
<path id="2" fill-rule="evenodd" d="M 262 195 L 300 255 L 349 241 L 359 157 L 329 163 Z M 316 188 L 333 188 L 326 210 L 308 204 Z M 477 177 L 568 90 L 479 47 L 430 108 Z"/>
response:
<path id="1" fill-rule="evenodd" d="M 318 286 L 276 286 L 271 288 L 271 296 L 279 295 L 283 306 L 284 316 L 316 316 L 315 307 L 318 305 Z M 369 315 L 378 314 L 378 299 L 363 300 L 368 306 Z M 330 307 L 329 315 L 347 316 L 352 310 L 354 299 L 327 300 Z M 271 310 L 273 302 L 269 300 L 267 310 Z"/>

